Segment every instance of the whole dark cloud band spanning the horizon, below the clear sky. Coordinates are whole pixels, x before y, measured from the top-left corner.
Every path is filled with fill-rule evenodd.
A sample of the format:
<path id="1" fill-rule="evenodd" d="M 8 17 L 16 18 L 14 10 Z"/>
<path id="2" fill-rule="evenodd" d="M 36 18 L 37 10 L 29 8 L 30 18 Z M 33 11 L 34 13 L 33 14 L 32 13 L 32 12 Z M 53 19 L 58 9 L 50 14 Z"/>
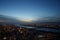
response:
<path id="1" fill-rule="evenodd" d="M 6 15 L 0 15 L 0 23 L 16 23 L 16 24 L 60 24 L 60 18 L 59 17 L 45 17 L 37 19 L 36 21 L 32 22 L 23 22 L 21 20 L 18 20 L 16 18 L 6 16 Z"/>

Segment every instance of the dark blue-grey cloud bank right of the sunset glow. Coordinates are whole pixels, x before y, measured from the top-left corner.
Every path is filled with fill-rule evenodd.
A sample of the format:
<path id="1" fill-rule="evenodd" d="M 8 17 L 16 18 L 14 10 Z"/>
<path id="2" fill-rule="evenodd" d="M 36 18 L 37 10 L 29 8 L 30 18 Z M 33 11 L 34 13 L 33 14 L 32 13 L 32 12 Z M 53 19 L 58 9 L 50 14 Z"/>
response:
<path id="1" fill-rule="evenodd" d="M 36 24 L 60 24 L 60 17 L 44 17 L 33 21 Z"/>

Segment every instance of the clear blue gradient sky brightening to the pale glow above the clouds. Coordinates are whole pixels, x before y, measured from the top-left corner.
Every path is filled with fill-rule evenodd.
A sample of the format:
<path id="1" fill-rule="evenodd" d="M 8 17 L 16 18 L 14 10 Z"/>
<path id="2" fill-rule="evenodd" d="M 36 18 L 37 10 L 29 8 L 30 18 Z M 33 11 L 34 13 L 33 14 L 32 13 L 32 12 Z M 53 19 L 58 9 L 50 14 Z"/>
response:
<path id="1" fill-rule="evenodd" d="M 0 0 L 0 14 L 22 20 L 60 17 L 60 0 Z"/>

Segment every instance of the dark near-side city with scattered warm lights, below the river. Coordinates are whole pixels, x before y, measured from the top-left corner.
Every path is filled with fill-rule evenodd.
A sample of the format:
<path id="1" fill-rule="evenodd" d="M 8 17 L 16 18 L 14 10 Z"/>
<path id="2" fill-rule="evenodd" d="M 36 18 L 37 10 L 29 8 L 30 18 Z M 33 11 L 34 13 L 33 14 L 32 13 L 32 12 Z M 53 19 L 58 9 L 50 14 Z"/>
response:
<path id="1" fill-rule="evenodd" d="M 60 33 L 3 24 L 0 25 L 0 40 L 60 40 Z"/>

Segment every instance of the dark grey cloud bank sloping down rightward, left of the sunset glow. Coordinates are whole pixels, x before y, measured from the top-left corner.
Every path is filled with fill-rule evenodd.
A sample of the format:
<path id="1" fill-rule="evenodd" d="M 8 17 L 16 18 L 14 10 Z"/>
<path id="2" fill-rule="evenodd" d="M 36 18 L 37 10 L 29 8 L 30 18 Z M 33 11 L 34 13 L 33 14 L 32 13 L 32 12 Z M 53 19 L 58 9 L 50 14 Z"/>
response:
<path id="1" fill-rule="evenodd" d="M 21 20 L 18 20 L 14 17 L 6 16 L 6 15 L 0 15 L 0 23 L 8 23 L 8 24 L 27 24 L 27 22 L 23 22 Z"/>

